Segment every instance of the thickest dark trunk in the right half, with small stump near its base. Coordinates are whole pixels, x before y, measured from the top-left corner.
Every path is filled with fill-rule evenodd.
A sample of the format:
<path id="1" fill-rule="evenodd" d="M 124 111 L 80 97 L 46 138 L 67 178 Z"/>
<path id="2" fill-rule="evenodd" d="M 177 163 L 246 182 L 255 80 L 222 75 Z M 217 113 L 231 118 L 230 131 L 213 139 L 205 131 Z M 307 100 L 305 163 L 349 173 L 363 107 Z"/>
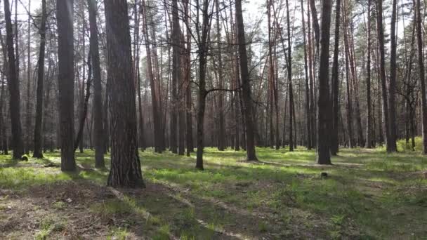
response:
<path id="1" fill-rule="evenodd" d="M 329 126 L 331 99 L 329 98 L 329 31 L 332 1 L 322 4 L 322 36 L 320 40 L 319 100 L 317 102 L 317 164 L 331 164 Z"/>

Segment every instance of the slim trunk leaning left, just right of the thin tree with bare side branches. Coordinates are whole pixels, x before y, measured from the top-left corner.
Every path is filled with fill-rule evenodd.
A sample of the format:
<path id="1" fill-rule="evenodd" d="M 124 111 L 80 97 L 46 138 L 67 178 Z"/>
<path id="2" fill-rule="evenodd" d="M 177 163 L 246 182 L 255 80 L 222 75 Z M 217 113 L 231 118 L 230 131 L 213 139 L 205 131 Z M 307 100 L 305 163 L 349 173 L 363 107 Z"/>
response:
<path id="1" fill-rule="evenodd" d="M 244 107 L 244 123 L 246 126 L 247 161 L 258 161 L 255 152 L 254 123 L 252 116 L 251 84 L 249 82 L 246 40 L 242 15 L 242 0 L 236 0 L 237 43 L 239 45 L 240 77 L 242 79 L 242 98 Z"/>

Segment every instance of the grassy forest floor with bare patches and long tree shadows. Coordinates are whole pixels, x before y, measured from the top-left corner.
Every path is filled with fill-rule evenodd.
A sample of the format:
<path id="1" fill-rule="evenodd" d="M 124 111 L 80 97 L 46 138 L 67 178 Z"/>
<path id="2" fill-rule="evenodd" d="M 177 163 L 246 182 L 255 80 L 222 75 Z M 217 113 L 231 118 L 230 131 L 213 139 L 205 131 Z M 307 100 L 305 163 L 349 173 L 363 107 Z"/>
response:
<path id="1" fill-rule="evenodd" d="M 146 150 L 146 189 L 105 187 L 90 150 L 77 173 L 58 152 L 0 156 L 0 239 L 426 239 L 420 152 L 341 149 L 332 166 L 303 147 L 257 154 L 206 148 L 197 171 L 195 156 Z"/>

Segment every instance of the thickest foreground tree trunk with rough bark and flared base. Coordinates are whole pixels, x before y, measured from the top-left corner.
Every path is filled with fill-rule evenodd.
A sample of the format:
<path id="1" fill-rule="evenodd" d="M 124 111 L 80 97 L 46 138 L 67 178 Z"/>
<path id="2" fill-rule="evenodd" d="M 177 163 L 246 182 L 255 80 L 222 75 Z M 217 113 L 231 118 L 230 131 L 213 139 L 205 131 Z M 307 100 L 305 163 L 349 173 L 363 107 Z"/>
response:
<path id="1" fill-rule="evenodd" d="M 107 185 L 144 187 L 138 156 L 136 89 L 126 0 L 105 4 L 108 81 L 110 82 L 111 169 Z"/>

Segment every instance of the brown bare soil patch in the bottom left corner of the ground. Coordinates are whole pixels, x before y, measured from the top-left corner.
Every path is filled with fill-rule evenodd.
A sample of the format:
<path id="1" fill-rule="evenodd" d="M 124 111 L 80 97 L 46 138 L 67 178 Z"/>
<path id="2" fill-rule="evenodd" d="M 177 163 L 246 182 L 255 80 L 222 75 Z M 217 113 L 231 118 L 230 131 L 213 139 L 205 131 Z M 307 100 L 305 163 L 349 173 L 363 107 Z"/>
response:
<path id="1" fill-rule="evenodd" d="M 103 238 L 108 227 L 87 211 L 89 204 L 114 197 L 105 187 L 91 182 L 58 182 L 30 187 L 15 194 L 0 192 L 0 238 L 34 239 L 52 225 L 49 238 Z"/>

